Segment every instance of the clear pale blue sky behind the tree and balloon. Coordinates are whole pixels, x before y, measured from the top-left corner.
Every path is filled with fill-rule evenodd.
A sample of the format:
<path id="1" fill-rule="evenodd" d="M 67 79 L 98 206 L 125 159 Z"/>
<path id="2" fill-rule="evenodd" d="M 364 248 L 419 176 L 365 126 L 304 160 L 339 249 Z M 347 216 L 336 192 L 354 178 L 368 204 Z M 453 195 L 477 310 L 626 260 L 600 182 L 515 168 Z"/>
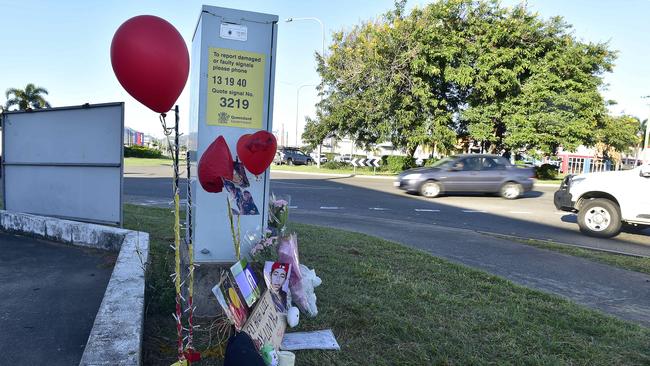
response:
<path id="1" fill-rule="evenodd" d="M 410 0 L 408 8 L 430 1 Z M 519 3 L 504 0 L 505 6 Z M 614 114 L 650 116 L 650 40 L 647 15 L 650 0 L 528 0 L 531 11 L 548 18 L 563 16 L 574 26 L 576 37 L 587 42 L 608 42 L 618 51 L 613 73 L 607 74 L 606 99 L 618 102 Z M 276 14 L 278 48 L 275 75 L 274 130 L 284 124 L 289 142 L 295 141 L 296 101 L 299 128 L 313 116 L 319 82 L 314 52 L 320 52 L 321 29 L 314 21 L 285 23 L 289 17 L 317 17 L 325 27 L 326 43 L 332 32 L 350 29 L 393 7 L 392 0 L 358 1 L 7 1 L 0 0 L 0 103 L 4 91 L 27 83 L 46 88 L 55 107 L 84 103 L 125 102 L 125 124 L 138 131 L 162 136 L 155 112 L 126 93 L 115 77 L 110 45 L 115 30 L 131 17 L 156 15 L 172 23 L 188 49 L 201 5 Z M 189 81 L 179 97 L 181 132 L 187 132 Z M 300 132 L 299 132 L 300 134 Z"/>

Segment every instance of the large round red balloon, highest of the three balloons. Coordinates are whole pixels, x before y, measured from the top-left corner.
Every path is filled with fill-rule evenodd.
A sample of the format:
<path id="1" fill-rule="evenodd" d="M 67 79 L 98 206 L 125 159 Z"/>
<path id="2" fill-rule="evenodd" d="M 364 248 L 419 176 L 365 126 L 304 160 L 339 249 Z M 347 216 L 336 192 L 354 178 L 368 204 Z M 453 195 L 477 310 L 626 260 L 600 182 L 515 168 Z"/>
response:
<path id="1" fill-rule="evenodd" d="M 111 64 L 117 80 L 133 98 L 155 112 L 167 113 L 185 87 L 190 56 L 173 25 L 153 15 L 140 15 L 115 32 Z"/>

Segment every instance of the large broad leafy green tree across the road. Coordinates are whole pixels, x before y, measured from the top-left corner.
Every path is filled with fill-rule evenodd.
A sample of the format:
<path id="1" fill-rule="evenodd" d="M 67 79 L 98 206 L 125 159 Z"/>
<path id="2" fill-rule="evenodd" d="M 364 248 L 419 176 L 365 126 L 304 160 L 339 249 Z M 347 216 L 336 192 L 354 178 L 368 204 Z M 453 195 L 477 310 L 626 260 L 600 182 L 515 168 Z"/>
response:
<path id="1" fill-rule="evenodd" d="M 457 137 L 487 151 L 553 153 L 596 141 L 599 88 L 615 53 L 578 41 L 561 18 L 496 1 L 440 0 L 333 36 L 320 58 L 319 124 L 361 146 L 412 154 Z"/>

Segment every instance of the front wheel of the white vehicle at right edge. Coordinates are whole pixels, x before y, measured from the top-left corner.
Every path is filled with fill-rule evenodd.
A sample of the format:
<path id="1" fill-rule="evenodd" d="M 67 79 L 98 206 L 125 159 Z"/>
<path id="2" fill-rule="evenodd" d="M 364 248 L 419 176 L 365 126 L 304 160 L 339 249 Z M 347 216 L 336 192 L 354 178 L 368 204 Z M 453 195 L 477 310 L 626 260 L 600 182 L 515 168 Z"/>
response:
<path id="1" fill-rule="evenodd" d="M 604 198 L 589 200 L 578 211 L 580 231 L 589 236 L 610 238 L 621 231 L 618 206 Z"/>

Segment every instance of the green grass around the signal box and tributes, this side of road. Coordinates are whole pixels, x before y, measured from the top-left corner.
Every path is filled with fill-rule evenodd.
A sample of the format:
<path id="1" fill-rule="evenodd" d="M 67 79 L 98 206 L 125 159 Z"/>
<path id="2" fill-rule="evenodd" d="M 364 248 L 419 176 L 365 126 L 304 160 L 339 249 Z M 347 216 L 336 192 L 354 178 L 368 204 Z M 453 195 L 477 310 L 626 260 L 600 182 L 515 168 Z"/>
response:
<path id="1" fill-rule="evenodd" d="M 172 215 L 127 205 L 125 218 L 128 228 L 151 234 L 144 363 L 169 365 Z M 302 263 L 323 279 L 319 314 L 303 316 L 298 330 L 332 328 L 341 345 L 297 351 L 298 365 L 650 364 L 647 328 L 396 243 L 292 228 Z"/>

